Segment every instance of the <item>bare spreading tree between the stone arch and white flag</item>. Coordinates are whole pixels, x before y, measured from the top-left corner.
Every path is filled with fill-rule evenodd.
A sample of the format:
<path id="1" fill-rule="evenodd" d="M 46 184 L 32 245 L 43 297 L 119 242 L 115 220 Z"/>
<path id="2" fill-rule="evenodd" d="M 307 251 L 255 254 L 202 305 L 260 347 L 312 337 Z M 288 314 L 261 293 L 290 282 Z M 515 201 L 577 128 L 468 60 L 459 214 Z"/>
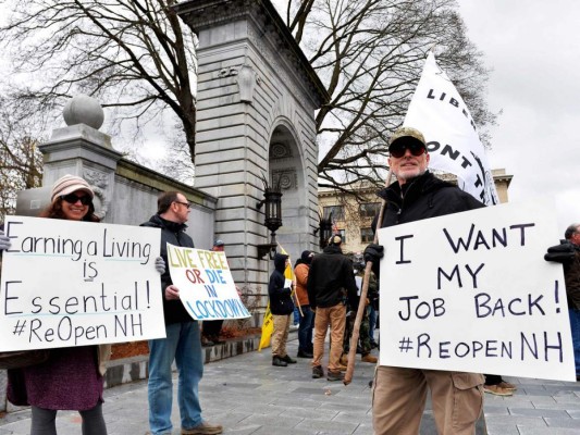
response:
<path id="1" fill-rule="evenodd" d="M 468 40 L 454 0 L 305 0 L 286 22 L 332 96 L 317 114 L 320 186 L 345 192 L 378 183 L 386 144 L 403 122 L 429 50 L 447 71 L 480 127 L 489 71 Z"/>

